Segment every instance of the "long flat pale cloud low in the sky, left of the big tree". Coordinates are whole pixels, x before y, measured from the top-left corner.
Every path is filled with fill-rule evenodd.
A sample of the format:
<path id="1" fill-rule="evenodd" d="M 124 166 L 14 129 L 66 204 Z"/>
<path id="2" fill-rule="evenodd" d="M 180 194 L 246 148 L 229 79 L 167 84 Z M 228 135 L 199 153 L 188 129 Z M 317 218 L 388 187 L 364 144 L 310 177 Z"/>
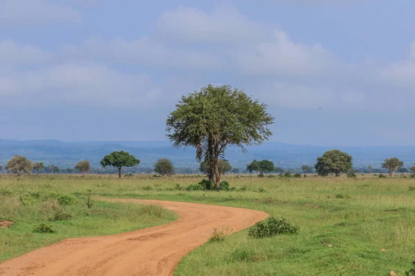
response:
<path id="1" fill-rule="evenodd" d="M 62 64 L 15 74 L 4 82 L 9 90 L 3 91 L 3 95 L 20 94 L 28 99 L 35 96 L 91 106 L 145 107 L 161 98 L 149 76 L 123 74 L 98 64 Z"/>

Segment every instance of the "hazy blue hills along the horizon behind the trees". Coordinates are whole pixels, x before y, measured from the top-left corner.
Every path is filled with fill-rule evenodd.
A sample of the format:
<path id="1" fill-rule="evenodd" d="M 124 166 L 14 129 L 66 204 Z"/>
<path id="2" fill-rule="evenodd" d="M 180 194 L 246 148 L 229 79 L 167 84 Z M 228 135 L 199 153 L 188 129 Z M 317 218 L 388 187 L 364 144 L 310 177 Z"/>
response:
<path id="1" fill-rule="evenodd" d="M 415 163 L 415 146 L 362 146 L 362 147 L 326 147 L 301 146 L 279 142 L 267 142 L 262 146 L 248 148 L 246 155 L 229 148 L 226 159 L 234 168 L 246 168 L 253 159 L 269 159 L 282 168 L 299 168 L 302 165 L 313 165 L 315 159 L 326 150 L 337 148 L 348 152 L 353 157 L 356 168 L 369 165 L 380 167 L 385 158 L 398 157 L 409 167 Z M 94 167 L 104 155 L 114 150 L 130 152 L 140 159 L 140 166 L 151 167 L 154 162 L 166 157 L 175 166 L 197 168 L 194 148 L 172 148 L 169 141 L 82 141 L 63 142 L 57 140 L 15 141 L 0 139 L 0 164 L 6 164 L 13 155 L 23 155 L 33 161 L 55 164 L 62 168 L 73 167 L 77 161 L 87 159 Z"/>

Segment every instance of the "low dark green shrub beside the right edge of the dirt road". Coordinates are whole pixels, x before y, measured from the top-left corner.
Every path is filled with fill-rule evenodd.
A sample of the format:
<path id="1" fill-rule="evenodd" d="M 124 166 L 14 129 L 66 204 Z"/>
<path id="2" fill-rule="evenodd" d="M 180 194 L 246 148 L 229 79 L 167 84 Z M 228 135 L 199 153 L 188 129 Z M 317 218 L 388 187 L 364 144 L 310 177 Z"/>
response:
<path id="1" fill-rule="evenodd" d="M 272 237 L 279 234 L 296 234 L 299 232 L 298 226 L 292 226 L 286 219 L 276 219 L 268 217 L 264 221 L 257 222 L 248 229 L 249 237 Z"/>

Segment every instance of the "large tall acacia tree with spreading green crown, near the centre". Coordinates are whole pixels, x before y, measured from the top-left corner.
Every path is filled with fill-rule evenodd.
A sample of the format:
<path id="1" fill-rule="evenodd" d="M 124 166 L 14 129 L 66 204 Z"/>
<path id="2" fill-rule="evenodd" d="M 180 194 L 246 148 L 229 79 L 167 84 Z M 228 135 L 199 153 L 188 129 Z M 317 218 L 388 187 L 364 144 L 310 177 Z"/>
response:
<path id="1" fill-rule="evenodd" d="M 246 152 L 246 146 L 259 145 L 272 133 L 273 117 L 243 90 L 231 86 L 208 85 L 183 96 L 167 117 L 167 137 L 176 148 L 196 148 L 196 160 L 208 164 L 207 173 L 216 188 L 220 186 L 219 160 L 234 146 Z"/>

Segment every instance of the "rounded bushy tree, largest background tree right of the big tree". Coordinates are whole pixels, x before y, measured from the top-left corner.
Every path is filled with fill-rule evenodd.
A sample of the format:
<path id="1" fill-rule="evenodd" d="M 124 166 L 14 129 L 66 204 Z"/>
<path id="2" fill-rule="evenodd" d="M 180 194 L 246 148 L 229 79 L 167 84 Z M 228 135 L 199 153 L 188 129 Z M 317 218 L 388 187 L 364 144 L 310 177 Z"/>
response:
<path id="1" fill-rule="evenodd" d="M 329 150 L 324 152 L 322 157 L 317 158 L 315 170 L 318 175 L 327 176 L 334 173 L 335 176 L 340 176 L 341 173 L 347 173 L 352 168 L 352 157 L 346 152 L 340 150 Z"/>

